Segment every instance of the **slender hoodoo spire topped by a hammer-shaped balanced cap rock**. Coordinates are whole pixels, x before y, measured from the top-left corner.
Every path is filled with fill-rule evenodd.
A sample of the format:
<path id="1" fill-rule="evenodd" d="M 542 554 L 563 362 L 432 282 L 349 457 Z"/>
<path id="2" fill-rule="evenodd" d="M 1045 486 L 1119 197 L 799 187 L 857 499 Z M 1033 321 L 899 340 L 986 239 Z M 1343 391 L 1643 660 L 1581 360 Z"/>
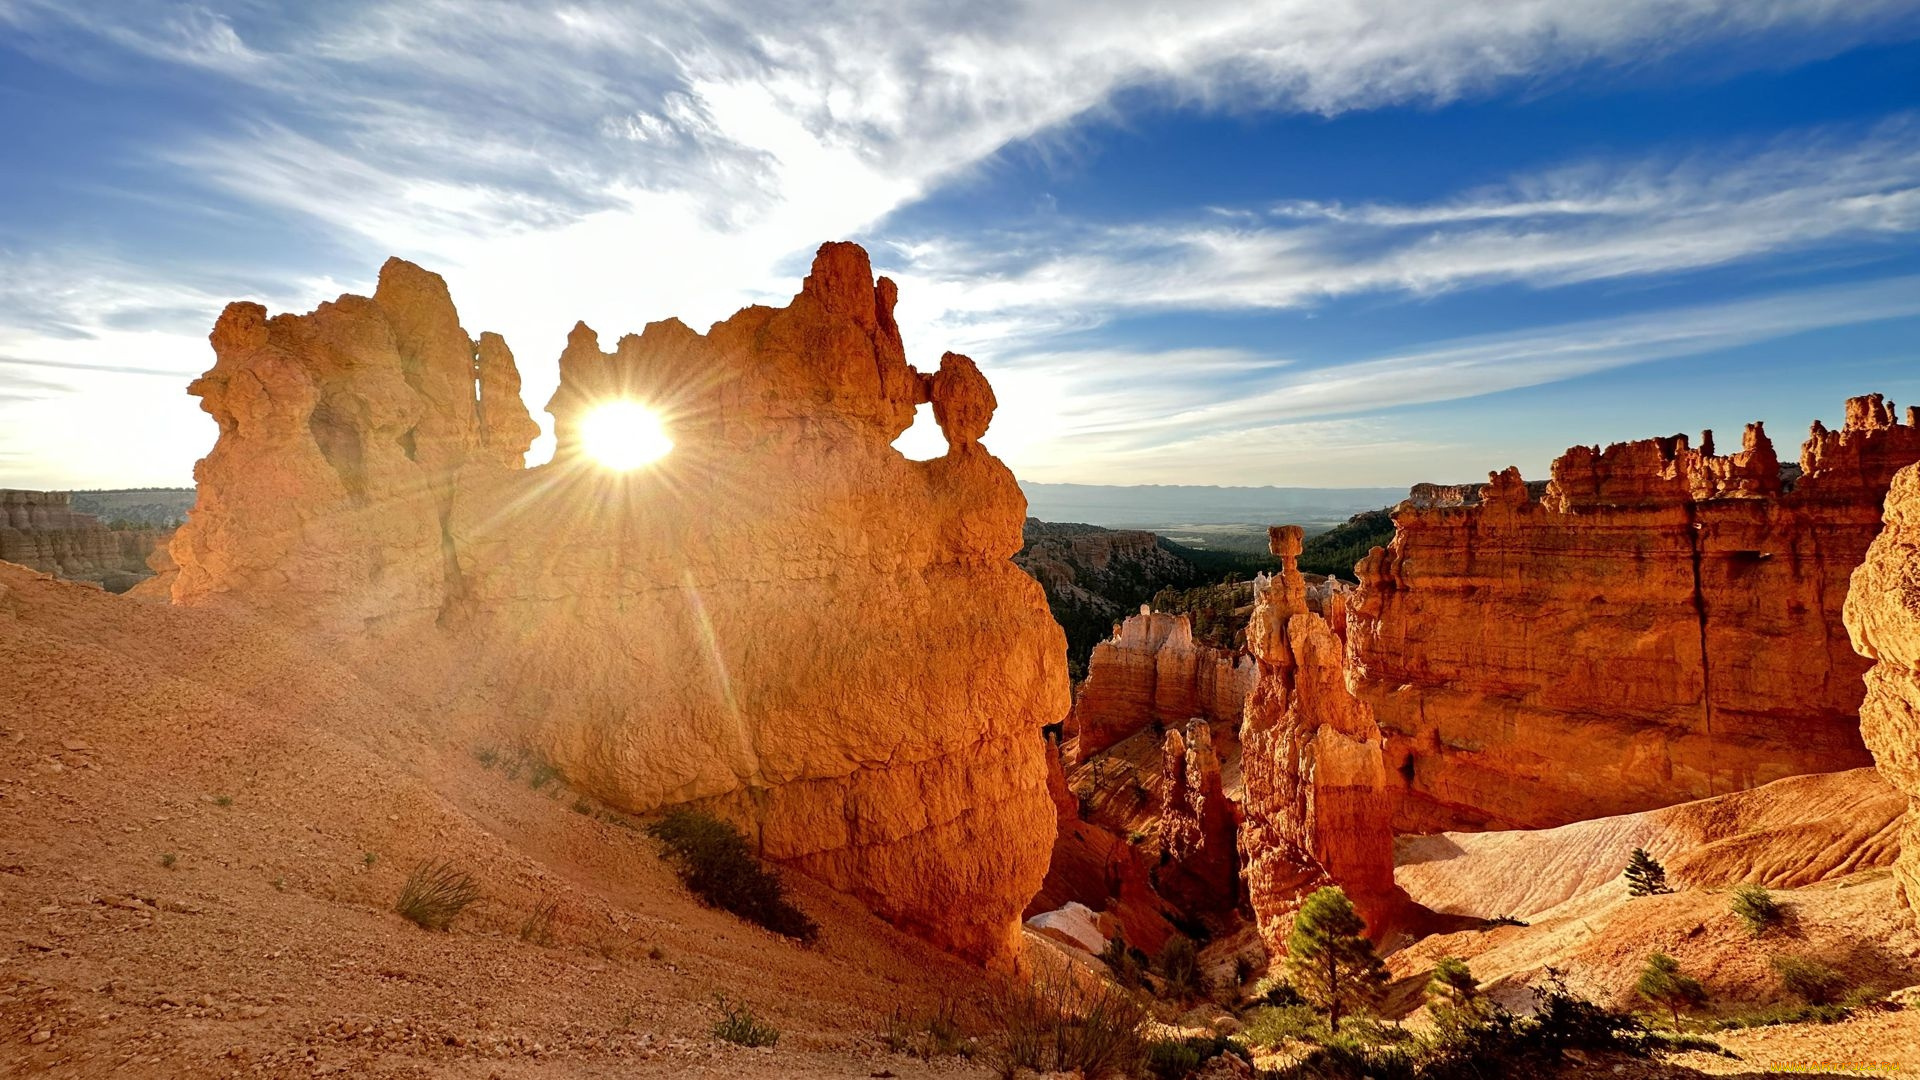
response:
<path id="1" fill-rule="evenodd" d="M 1348 692 L 1338 634 L 1308 609 L 1300 527 L 1271 536 L 1281 573 L 1267 578 L 1246 634 L 1258 680 L 1240 724 L 1240 851 L 1260 936 L 1281 955 L 1294 909 L 1319 886 L 1342 886 L 1375 940 L 1404 920 L 1407 901 L 1394 886 L 1380 728 Z"/>

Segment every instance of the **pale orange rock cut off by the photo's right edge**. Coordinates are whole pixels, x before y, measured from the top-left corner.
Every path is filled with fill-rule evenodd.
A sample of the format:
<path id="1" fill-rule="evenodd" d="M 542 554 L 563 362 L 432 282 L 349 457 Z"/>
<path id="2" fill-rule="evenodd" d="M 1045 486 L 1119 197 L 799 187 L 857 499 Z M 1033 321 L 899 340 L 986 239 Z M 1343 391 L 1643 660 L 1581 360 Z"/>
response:
<path id="1" fill-rule="evenodd" d="M 1872 661 L 1860 734 L 1880 776 L 1907 796 L 1895 874 L 1920 915 L 1920 465 L 1893 477 L 1885 528 L 1847 590 L 1847 632 Z"/>

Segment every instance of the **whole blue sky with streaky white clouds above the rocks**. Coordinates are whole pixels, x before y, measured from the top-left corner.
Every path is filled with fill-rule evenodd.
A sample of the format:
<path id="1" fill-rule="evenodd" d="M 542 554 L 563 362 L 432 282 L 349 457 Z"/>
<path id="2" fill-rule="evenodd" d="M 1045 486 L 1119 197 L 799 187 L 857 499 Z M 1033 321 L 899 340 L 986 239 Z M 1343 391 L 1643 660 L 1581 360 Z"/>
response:
<path id="1" fill-rule="evenodd" d="M 0 0 L 0 486 L 190 484 L 230 300 L 413 259 L 547 421 L 841 238 L 1027 480 L 1791 457 L 1920 400 L 1920 0 Z"/>

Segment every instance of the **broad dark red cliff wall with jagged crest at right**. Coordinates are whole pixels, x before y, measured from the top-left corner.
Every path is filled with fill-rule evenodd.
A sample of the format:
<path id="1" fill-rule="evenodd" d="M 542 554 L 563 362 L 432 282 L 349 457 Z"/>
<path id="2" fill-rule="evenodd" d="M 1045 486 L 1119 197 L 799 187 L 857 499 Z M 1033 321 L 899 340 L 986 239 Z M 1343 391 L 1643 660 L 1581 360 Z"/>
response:
<path id="1" fill-rule="evenodd" d="M 1348 603 L 1396 828 L 1542 828 L 1866 765 L 1839 607 L 1916 459 L 1912 419 L 1872 396 L 1814 425 L 1791 486 L 1751 425 L 1728 455 L 1711 432 L 1582 446 L 1538 496 L 1507 469 L 1478 502 L 1402 503 Z"/>

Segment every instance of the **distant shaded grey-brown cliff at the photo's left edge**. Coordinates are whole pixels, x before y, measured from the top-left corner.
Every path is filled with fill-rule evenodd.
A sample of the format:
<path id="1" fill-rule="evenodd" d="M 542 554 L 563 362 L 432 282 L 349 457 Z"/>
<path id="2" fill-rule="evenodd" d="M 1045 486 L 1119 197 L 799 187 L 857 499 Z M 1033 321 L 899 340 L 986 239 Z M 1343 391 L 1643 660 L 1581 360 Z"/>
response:
<path id="1" fill-rule="evenodd" d="M 0 488 L 0 561 L 127 592 L 165 538 L 165 528 L 108 528 L 67 492 Z"/>

